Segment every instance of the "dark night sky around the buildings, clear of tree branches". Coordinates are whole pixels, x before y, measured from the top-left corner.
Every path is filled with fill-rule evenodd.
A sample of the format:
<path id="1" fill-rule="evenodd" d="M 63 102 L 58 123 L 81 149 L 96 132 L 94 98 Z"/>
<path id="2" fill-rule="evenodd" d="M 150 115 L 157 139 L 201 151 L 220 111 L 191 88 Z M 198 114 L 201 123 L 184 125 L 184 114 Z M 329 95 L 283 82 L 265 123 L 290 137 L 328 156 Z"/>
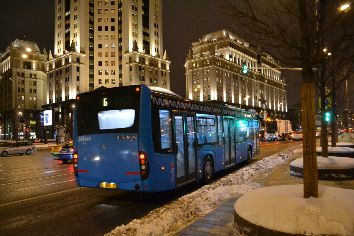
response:
<path id="1" fill-rule="evenodd" d="M 233 31 L 230 18 L 224 15 L 222 1 L 164 0 L 162 1 L 163 50 L 167 50 L 170 66 L 170 89 L 185 96 L 184 63 L 192 42 L 202 35 L 222 29 Z M 35 42 L 40 51 L 54 49 L 55 0 L 13 0 L 0 2 L 0 52 L 11 41 L 21 39 Z M 25 38 L 23 37 L 25 35 Z M 282 71 L 287 86 L 288 108 L 301 100 L 299 76 L 296 71 Z"/>

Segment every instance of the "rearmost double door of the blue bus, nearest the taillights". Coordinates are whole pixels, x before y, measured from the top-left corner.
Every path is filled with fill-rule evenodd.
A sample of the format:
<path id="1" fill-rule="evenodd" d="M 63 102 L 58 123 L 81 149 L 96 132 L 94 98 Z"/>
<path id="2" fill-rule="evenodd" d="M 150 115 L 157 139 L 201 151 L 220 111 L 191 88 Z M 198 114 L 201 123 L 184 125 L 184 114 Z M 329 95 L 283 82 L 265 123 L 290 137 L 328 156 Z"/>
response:
<path id="1" fill-rule="evenodd" d="M 196 135 L 194 113 L 173 113 L 176 145 L 177 187 L 196 179 Z"/>

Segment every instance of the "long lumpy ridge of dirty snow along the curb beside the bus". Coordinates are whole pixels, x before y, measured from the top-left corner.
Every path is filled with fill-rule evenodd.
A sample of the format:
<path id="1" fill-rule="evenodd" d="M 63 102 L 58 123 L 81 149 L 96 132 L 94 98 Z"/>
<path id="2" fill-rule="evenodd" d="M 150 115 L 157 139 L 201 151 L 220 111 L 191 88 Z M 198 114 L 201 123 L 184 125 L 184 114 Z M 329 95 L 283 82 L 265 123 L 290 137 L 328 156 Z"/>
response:
<path id="1" fill-rule="evenodd" d="M 141 219 L 118 226 L 105 236 L 162 236 L 177 232 L 202 214 L 209 212 L 216 202 L 231 192 L 244 194 L 256 189 L 258 185 L 251 183 L 251 180 L 299 152 L 302 152 L 302 145 L 292 146 L 266 157 L 235 174 L 229 174 L 215 183 L 178 198 L 169 205 L 155 209 Z"/>

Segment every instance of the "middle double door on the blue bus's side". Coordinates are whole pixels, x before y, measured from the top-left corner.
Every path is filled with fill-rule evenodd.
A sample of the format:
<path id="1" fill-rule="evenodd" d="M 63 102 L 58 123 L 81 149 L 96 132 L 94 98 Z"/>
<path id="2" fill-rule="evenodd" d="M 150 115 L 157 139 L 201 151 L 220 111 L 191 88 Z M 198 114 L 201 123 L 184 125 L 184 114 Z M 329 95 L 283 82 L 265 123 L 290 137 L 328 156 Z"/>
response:
<path id="1" fill-rule="evenodd" d="M 235 163 L 235 119 L 224 117 L 225 166 Z"/>

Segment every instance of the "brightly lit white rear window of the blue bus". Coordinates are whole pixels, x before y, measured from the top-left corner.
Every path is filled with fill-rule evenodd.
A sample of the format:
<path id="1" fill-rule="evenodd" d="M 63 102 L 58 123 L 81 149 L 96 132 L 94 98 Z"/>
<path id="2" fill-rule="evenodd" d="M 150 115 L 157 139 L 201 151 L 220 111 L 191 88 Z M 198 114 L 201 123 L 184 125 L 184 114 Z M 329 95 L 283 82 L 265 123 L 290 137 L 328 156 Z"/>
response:
<path id="1" fill-rule="evenodd" d="M 135 110 L 109 110 L 98 112 L 99 129 L 120 129 L 133 126 Z"/>

